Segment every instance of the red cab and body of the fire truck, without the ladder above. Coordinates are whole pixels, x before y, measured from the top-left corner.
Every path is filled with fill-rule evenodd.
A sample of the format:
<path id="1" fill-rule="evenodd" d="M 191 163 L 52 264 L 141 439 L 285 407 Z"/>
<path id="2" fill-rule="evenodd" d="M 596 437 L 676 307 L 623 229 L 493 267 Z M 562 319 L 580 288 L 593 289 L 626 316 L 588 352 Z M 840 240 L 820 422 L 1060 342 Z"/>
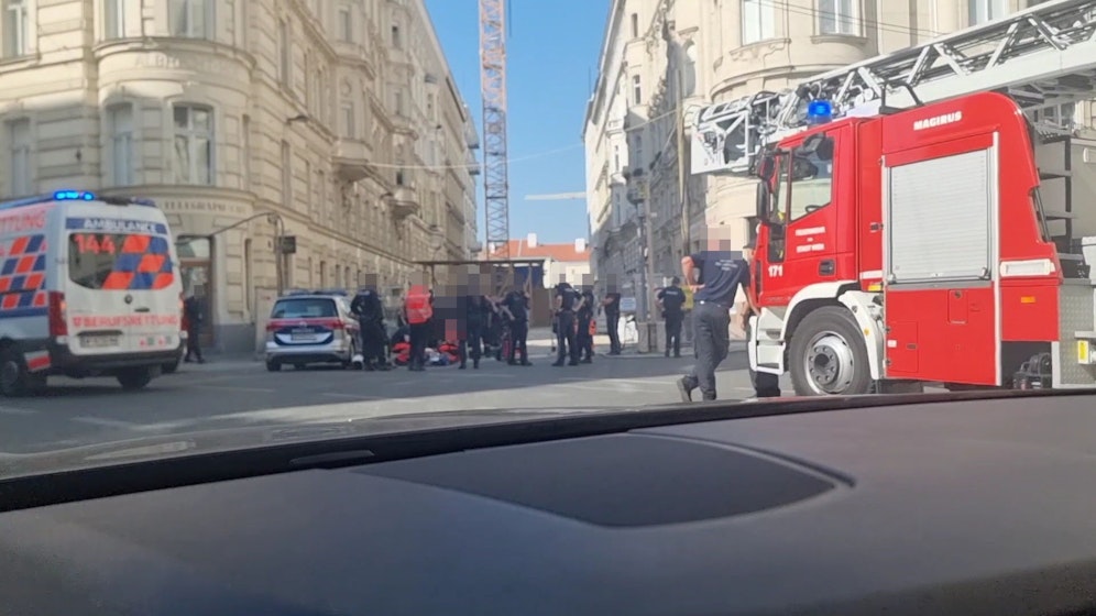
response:
<path id="1" fill-rule="evenodd" d="M 1094 283 L 1048 233 L 1010 97 L 819 122 L 756 164 L 754 370 L 799 395 L 1096 385 Z"/>

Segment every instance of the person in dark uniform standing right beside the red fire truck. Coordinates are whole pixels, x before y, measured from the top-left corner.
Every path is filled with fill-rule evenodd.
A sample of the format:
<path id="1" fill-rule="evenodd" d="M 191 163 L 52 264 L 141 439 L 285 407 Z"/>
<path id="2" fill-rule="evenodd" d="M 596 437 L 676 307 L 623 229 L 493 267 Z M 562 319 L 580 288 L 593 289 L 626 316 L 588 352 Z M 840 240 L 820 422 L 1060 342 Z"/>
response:
<path id="1" fill-rule="evenodd" d="M 682 402 L 692 402 L 700 389 L 705 400 L 715 399 L 715 369 L 731 348 L 731 308 L 738 289 L 749 292 L 749 265 L 742 253 L 713 231 L 708 250 L 681 260 L 686 284 L 693 289 L 693 344 L 697 365 L 678 381 Z"/>

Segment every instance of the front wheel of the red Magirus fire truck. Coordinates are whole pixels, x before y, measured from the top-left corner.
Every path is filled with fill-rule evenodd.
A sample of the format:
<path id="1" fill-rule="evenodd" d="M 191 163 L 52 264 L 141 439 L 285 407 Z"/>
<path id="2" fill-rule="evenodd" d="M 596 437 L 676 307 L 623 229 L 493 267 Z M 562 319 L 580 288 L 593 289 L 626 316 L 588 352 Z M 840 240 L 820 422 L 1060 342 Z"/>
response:
<path id="1" fill-rule="evenodd" d="M 825 306 L 803 318 L 791 338 L 791 383 L 799 396 L 867 394 L 864 336 L 847 309 Z"/>

